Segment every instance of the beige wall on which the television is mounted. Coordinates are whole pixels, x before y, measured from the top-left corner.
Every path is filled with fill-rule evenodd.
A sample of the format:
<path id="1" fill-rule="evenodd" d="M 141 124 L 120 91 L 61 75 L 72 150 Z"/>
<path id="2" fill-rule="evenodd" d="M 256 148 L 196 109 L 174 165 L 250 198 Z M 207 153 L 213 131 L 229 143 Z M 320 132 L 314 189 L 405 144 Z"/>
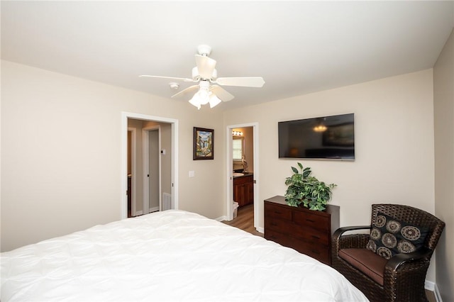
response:
<path id="1" fill-rule="evenodd" d="M 341 113 L 355 113 L 354 162 L 279 160 L 277 122 Z M 332 203 L 341 206 L 341 225 L 370 223 L 372 203 L 403 203 L 434 213 L 432 69 L 242 108 L 224 119 L 226 125 L 259 125 L 260 226 L 262 200 L 284 195 L 284 180 L 297 162 L 338 184 Z M 428 279 L 435 280 L 432 267 Z"/>

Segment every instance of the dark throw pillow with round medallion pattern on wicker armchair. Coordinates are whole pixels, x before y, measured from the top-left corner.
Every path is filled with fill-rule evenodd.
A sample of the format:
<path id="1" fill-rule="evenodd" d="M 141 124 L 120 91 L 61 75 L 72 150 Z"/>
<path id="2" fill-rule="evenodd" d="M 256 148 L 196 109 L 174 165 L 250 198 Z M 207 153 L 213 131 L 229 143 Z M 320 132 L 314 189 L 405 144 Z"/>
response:
<path id="1" fill-rule="evenodd" d="M 384 259 L 418 250 L 424 245 L 428 228 L 409 225 L 384 213 L 378 213 L 370 230 L 366 248 Z"/>

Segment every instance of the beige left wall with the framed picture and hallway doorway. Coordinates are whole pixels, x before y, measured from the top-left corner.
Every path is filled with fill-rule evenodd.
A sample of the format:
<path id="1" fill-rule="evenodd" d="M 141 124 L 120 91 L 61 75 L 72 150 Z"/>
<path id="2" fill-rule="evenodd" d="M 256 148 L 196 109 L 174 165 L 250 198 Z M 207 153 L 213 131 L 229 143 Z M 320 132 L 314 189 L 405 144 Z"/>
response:
<path id="1" fill-rule="evenodd" d="M 179 208 L 224 215 L 221 111 L 1 61 L 1 251 L 121 218 L 123 111 L 179 121 Z M 194 126 L 214 160 L 192 160 Z"/>

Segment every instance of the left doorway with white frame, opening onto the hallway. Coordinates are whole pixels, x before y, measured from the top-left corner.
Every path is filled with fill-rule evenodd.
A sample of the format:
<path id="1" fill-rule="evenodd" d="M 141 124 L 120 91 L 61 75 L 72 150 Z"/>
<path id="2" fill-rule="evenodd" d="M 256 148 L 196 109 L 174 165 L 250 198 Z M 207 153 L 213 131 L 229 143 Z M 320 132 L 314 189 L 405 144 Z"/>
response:
<path id="1" fill-rule="evenodd" d="M 137 137 L 142 136 L 142 138 L 137 138 L 135 140 L 135 152 L 133 152 L 133 158 L 135 158 L 135 164 L 133 164 L 132 168 L 132 177 L 133 177 L 133 192 L 132 196 L 135 198 L 135 203 L 133 202 L 131 210 L 133 210 L 134 206 L 137 208 L 135 209 L 136 215 L 141 215 L 143 213 L 148 213 L 150 209 L 157 208 L 159 211 L 162 207 L 159 203 L 155 206 L 150 206 L 150 194 L 148 189 L 148 179 L 147 175 L 149 175 L 149 170 L 145 169 L 144 162 L 145 153 L 152 153 L 148 152 L 148 142 L 150 142 L 150 138 L 152 141 L 156 140 L 157 136 L 157 143 L 153 143 L 153 147 L 155 147 L 155 157 L 159 158 L 159 160 L 146 160 L 147 164 L 153 164 L 153 167 L 159 167 L 158 172 L 159 174 L 159 182 L 157 184 L 157 188 L 159 190 L 153 189 L 153 191 L 159 191 L 158 196 L 153 197 L 154 200 L 160 200 L 161 195 L 165 193 L 166 196 L 169 196 L 171 199 L 171 208 L 178 208 L 178 120 L 172 118 L 162 118 L 158 116 L 147 116 L 139 113 L 128 113 L 122 112 L 121 113 L 121 124 L 122 124 L 122 152 L 121 152 L 121 219 L 128 217 L 128 123 L 131 125 L 131 121 L 133 121 L 134 127 L 140 131 L 136 131 Z M 139 126 L 140 124 L 140 126 Z M 143 135 L 144 129 L 151 130 L 148 133 L 146 130 L 145 134 Z M 153 129 L 157 129 L 153 132 Z M 148 136 L 150 135 L 150 136 Z M 147 145 L 143 142 L 144 138 L 147 138 Z M 163 145 L 165 149 L 163 149 Z M 150 143 L 151 145 L 151 143 Z M 144 152 L 147 150 L 147 152 Z M 151 163 L 153 162 L 153 163 Z M 156 163 L 157 162 L 157 163 Z M 134 168 L 135 167 L 135 168 Z M 165 167 L 165 172 L 163 171 Z M 134 181 L 134 176 L 135 181 Z M 146 178 L 145 178 L 146 177 Z M 145 179 L 147 181 L 145 181 Z M 153 177 L 155 179 L 155 177 Z M 146 194 L 145 194 L 146 191 Z M 126 192 L 126 194 L 125 194 Z M 155 203 L 153 203 L 155 204 Z"/>

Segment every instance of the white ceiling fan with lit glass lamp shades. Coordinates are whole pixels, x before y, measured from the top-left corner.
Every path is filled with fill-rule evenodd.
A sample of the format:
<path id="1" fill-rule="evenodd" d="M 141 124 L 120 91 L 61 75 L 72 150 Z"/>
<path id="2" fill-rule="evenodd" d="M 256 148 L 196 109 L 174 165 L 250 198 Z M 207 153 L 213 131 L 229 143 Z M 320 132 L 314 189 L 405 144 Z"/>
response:
<path id="1" fill-rule="evenodd" d="M 211 47 L 209 45 L 199 45 L 197 47 L 199 55 L 196 57 L 196 67 L 192 69 L 192 78 L 181 77 L 161 77 L 143 74 L 140 77 L 155 77 L 161 79 L 175 79 L 184 82 L 195 82 L 197 84 L 187 87 L 172 97 L 187 96 L 193 94 L 189 103 L 200 109 L 201 105 L 210 104 L 213 108 L 221 101 L 231 101 L 235 96 L 231 95 L 221 86 L 243 86 L 243 87 L 262 87 L 265 81 L 262 77 L 217 77 L 216 60 L 209 57 Z M 221 86 L 219 86 L 221 85 Z M 176 87 L 178 87 L 176 85 Z"/>

